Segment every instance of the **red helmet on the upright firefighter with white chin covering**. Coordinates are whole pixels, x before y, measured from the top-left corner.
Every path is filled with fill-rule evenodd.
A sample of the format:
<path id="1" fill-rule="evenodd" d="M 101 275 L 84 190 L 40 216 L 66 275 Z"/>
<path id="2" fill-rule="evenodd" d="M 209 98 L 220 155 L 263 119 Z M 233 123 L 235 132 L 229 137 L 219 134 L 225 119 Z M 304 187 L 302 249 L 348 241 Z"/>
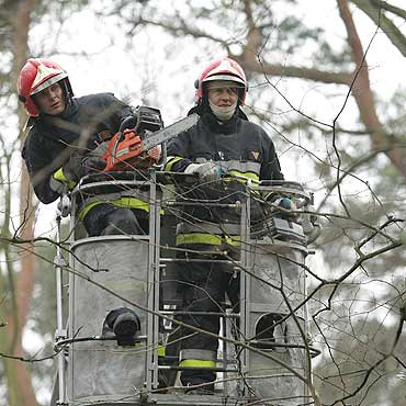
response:
<path id="1" fill-rule="evenodd" d="M 223 58 L 212 61 L 203 70 L 200 78 L 195 81 L 196 104 L 200 104 L 202 102 L 205 91 L 204 83 L 213 80 L 229 80 L 233 82 L 237 82 L 239 86 L 241 86 L 241 91 L 239 92 L 239 104 L 243 105 L 245 103 L 247 93 L 246 74 L 234 59 Z"/>

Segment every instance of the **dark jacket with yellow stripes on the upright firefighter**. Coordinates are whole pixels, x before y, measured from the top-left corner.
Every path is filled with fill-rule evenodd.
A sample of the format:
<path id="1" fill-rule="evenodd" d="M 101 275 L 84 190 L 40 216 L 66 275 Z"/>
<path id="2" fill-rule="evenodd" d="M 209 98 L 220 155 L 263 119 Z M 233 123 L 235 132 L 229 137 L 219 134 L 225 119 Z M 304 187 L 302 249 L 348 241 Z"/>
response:
<path id="1" fill-rule="evenodd" d="M 234 203 L 245 199 L 248 179 L 257 184 L 261 180 L 283 179 L 272 139 L 262 127 L 245 120 L 239 111 L 225 124 L 219 124 L 211 112 L 202 114 L 195 127 L 169 142 L 165 169 L 183 172 L 192 162 L 208 160 L 222 168 L 222 179 L 211 184 L 183 187 L 182 196 L 196 203 Z M 183 215 L 184 222 L 178 224 L 177 229 L 178 246 L 218 246 L 224 241 L 238 245 L 233 240 L 233 236 L 239 234 L 236 211 L 200 204 L 187 206 Z"/>

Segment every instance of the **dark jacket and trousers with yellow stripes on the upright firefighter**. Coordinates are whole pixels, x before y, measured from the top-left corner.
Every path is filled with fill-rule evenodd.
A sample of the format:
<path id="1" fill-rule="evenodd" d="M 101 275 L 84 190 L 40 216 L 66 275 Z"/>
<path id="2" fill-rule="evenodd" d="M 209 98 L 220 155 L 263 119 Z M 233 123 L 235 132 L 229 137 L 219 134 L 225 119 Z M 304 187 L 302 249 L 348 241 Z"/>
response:
<path id="1" fill-rule="evenodd" d="M 240 205 L 233 203 L 244 202 L 250 195 L 251 221 L 253 215 L 261 222 L 266 204 L 255 185 L 261 180 L 282 180 L 283 174 L 271 138 L 259 125 L 245 120 L 239 110 L 226 124 L 219 124 L 211 112 L 202 113 L 195 127 L 168 143 L 165 169 L 183 172 L 190 163 L 207 160 L 222 168 L 221 179 L 202 182 L 190 177 L 171 177 L 179 201 L 174 211 L 179 219 L 176 245 L 185 248 L 184 253 L 179 250 L 177 256 L 205 260 L 177 264 L 177 279 L 184 282 L 179 284 L 179 293 L 184 309 L 191 312 L 182 322 L 216 335 L 218 317 L 194 315 L 193 312 L 218 312 L 218 303 L 224 301 L 226 291 L 233 304 L 238 301 L 239 287 L 233 266 L 216 261 L 239 258 Z M 223 257 L 223 252 L 227 256 Z M 213 262 L 206 262 L 210 258 Z M 183 371 L 182 381 L 185 373 L 184 382 L 193 383 L 193 379 L 199 383 L 213 381 L 218 340 L 192 329 L 185 329 L 183 334 L 179 364 L 196 370 Z"/>

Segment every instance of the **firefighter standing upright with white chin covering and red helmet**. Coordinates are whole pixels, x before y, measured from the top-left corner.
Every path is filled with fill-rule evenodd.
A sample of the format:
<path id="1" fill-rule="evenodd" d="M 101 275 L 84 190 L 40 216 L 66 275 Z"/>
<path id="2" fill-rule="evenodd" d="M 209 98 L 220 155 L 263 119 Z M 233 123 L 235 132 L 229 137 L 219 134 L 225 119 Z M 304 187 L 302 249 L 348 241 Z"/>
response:
<path id="1" fill-rule="evenodd" d="M 195 202 L 234 203 L 244 201 L 248 180 L 282 180 L 283 174 L 271 137 L 250 123 L 241 110 L 247 80 L 243 68 L 232 58 L 211 63 L 195 82 L 198 125 L 168 144 L 166 170 L 191 173 L 195 183 L 177 187 Z M 261 204 L 251 207 L 251 219 L 263 218 Z M 177 214 L 181 217 L 181 214 Z M 218 313 L 225 292 L 233 306 L 239 303 L 239 278 L 230 264 L 217 261 L 239 258 L 240 217 L 235 210 L 204 205 L 185 205 L 177 226 L 178 256 L 196 261 L 179 261 L 180 290 L 183 295 L 182 322 L 212 335 L 183 328 L 179 364 L 181 382 L 191 392 L 214 390 L 219 330 Z M 227 252 L 213 257 L 213 253 Z M 199 252 L 199 253 L 198 253 Z M 207 261 L 207 259 L 210 259 Z M 190 313 L 189 313 L 190 312 Z M 196 312 L 195 314 L 193 314 Z M 210 313 L 213 313 L 211 315 Z M 202 387 L 202 384 L 203 385 Z M 188 390 L 187 390 L 188 391 Z"/>

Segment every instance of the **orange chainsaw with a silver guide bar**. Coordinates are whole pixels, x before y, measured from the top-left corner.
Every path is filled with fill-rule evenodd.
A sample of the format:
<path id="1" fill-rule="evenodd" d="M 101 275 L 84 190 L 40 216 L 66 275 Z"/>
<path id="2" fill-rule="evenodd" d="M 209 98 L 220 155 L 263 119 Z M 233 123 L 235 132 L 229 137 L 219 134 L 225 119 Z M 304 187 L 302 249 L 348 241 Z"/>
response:
<path id="1" fill-rule="evenodd" d="M 136 114 L 125 119 L 109 142 L 102 157 L 108 162 L 103 172 L 149 168 L 159 160 L 160 144 L 192 128 L 199 119 L 192 114 L 163 127 L 159 110 L 138 106 Z"/>

